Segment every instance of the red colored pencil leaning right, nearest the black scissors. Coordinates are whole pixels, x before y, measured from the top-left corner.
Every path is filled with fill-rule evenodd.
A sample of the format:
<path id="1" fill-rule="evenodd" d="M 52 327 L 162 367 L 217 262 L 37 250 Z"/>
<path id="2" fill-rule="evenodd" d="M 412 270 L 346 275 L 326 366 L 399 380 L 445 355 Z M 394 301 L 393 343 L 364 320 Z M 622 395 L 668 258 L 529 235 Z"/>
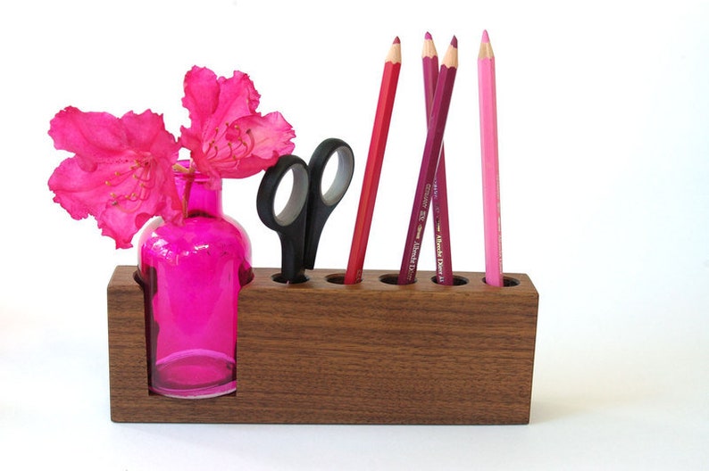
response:
<path id="1" fill-rule="evenodd" d="M 354 224 L 354 235 L 352 236 L 352 247 L 350 248 L 345 272 L 344 282 L 346 285 L 354 285 L 354 283 L 362 280 L 364 254 L 367 252 L 371 217 L 374 213 L 374 202 L 377 199 L 377 189 L 380 183 L 381 164 L 384 160 L 384 150 L 387 147 L 389 123 L 391 122 L 391 112 L 394 108 L 399 70 L 401 70 L 401 42 L 396 37 L 384 62 L 380 98 L 377 103 L 377 112 L 374 116 L 370 149 L 367 155 L 367 164 L 364 168 L 362 194 L 360 194 L 357 219 Z"/>

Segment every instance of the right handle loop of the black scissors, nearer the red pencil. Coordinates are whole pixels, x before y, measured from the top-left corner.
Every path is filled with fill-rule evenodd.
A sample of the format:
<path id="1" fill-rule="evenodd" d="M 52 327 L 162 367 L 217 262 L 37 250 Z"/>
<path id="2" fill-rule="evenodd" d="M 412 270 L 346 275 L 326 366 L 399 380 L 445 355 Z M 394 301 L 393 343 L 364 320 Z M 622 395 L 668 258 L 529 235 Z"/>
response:
<path id="1" fill-rule="evenodd" d="M 338 154 L 338 170 L 329 188 L 322 187 L 322 176 L 330 157 Z M 341 139 L 330 137 L 321 142 L 308 163 L 310 194 L 308 194 L 308 221 L 305 231 L 304 265 L 313 269 L 315 254 L 322 234 L 322 227 L 330 213 L 345 196 L 354 174 L 354 153 Z"/>

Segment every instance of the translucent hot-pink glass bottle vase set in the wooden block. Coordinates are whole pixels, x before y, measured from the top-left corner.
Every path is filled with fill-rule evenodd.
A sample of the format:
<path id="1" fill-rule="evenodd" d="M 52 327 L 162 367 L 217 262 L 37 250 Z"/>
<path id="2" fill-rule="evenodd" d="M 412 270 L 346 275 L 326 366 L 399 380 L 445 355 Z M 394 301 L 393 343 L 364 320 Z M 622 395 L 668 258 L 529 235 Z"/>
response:
<path id="1" fill-rule="evenodd" d="M 253 278 L 251 244 L 222 212 L 221 189 L 199 173 L 176 173 L 175 183 L 187 202 L 184 223 L 155 219 L 139 242 L 148 387 L 177 398 L 220 396 L 237 389 L 238 293 Z"/>

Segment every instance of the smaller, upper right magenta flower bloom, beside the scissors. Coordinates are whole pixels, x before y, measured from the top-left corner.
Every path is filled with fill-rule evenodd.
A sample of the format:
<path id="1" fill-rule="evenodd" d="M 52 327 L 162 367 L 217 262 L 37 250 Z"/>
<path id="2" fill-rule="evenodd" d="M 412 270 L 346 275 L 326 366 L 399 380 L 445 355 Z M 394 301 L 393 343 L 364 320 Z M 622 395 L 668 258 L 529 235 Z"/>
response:
<path id="1" fill-rule="evenodd" d="M 182 104 L 191 126 L 181 128 L 179 142 L 197 169 L 213 179 L 246 178 L 293 151 L 293 128 L 279 112 L 256 112 L 260 98 L 243 72 L 217 78 L 206 68 L 188 71 Z"/>

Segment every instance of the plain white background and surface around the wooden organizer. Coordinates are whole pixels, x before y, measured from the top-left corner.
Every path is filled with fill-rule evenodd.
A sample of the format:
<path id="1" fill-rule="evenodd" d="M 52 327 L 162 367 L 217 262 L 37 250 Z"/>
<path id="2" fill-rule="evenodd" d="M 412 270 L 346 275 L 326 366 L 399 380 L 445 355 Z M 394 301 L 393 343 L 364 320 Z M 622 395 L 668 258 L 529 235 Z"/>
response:
<path id="1" fill-rule="evenodd" d="M 0 467 L 4 469 L 698 469 L 709 462 L 709 4 L 37 0 L 0 6 Z M 260 111 L 354 148 L 317 265 L 344 269 L 384 56 L 404 63 L 365 269 L 396 270 L 425 139 L 421 45 L 459 40 L 446 128 L 454 269 L 484 268 L 476 58 L 497 62 L 505 271 L 540 293 L 529 426 L 119 425 L 105 287 L 117 252 L 46 188 L 64 106 L 188 124 L 193 65 L 251 75 Z M 225 210 L 254 265 L 279 243 Z M 430 231 L 430 229 L 429 229 Z M 432 244 L 420 269 L 433 267 Z M 14 463 L 8 467 L 7 463 Z"/>

